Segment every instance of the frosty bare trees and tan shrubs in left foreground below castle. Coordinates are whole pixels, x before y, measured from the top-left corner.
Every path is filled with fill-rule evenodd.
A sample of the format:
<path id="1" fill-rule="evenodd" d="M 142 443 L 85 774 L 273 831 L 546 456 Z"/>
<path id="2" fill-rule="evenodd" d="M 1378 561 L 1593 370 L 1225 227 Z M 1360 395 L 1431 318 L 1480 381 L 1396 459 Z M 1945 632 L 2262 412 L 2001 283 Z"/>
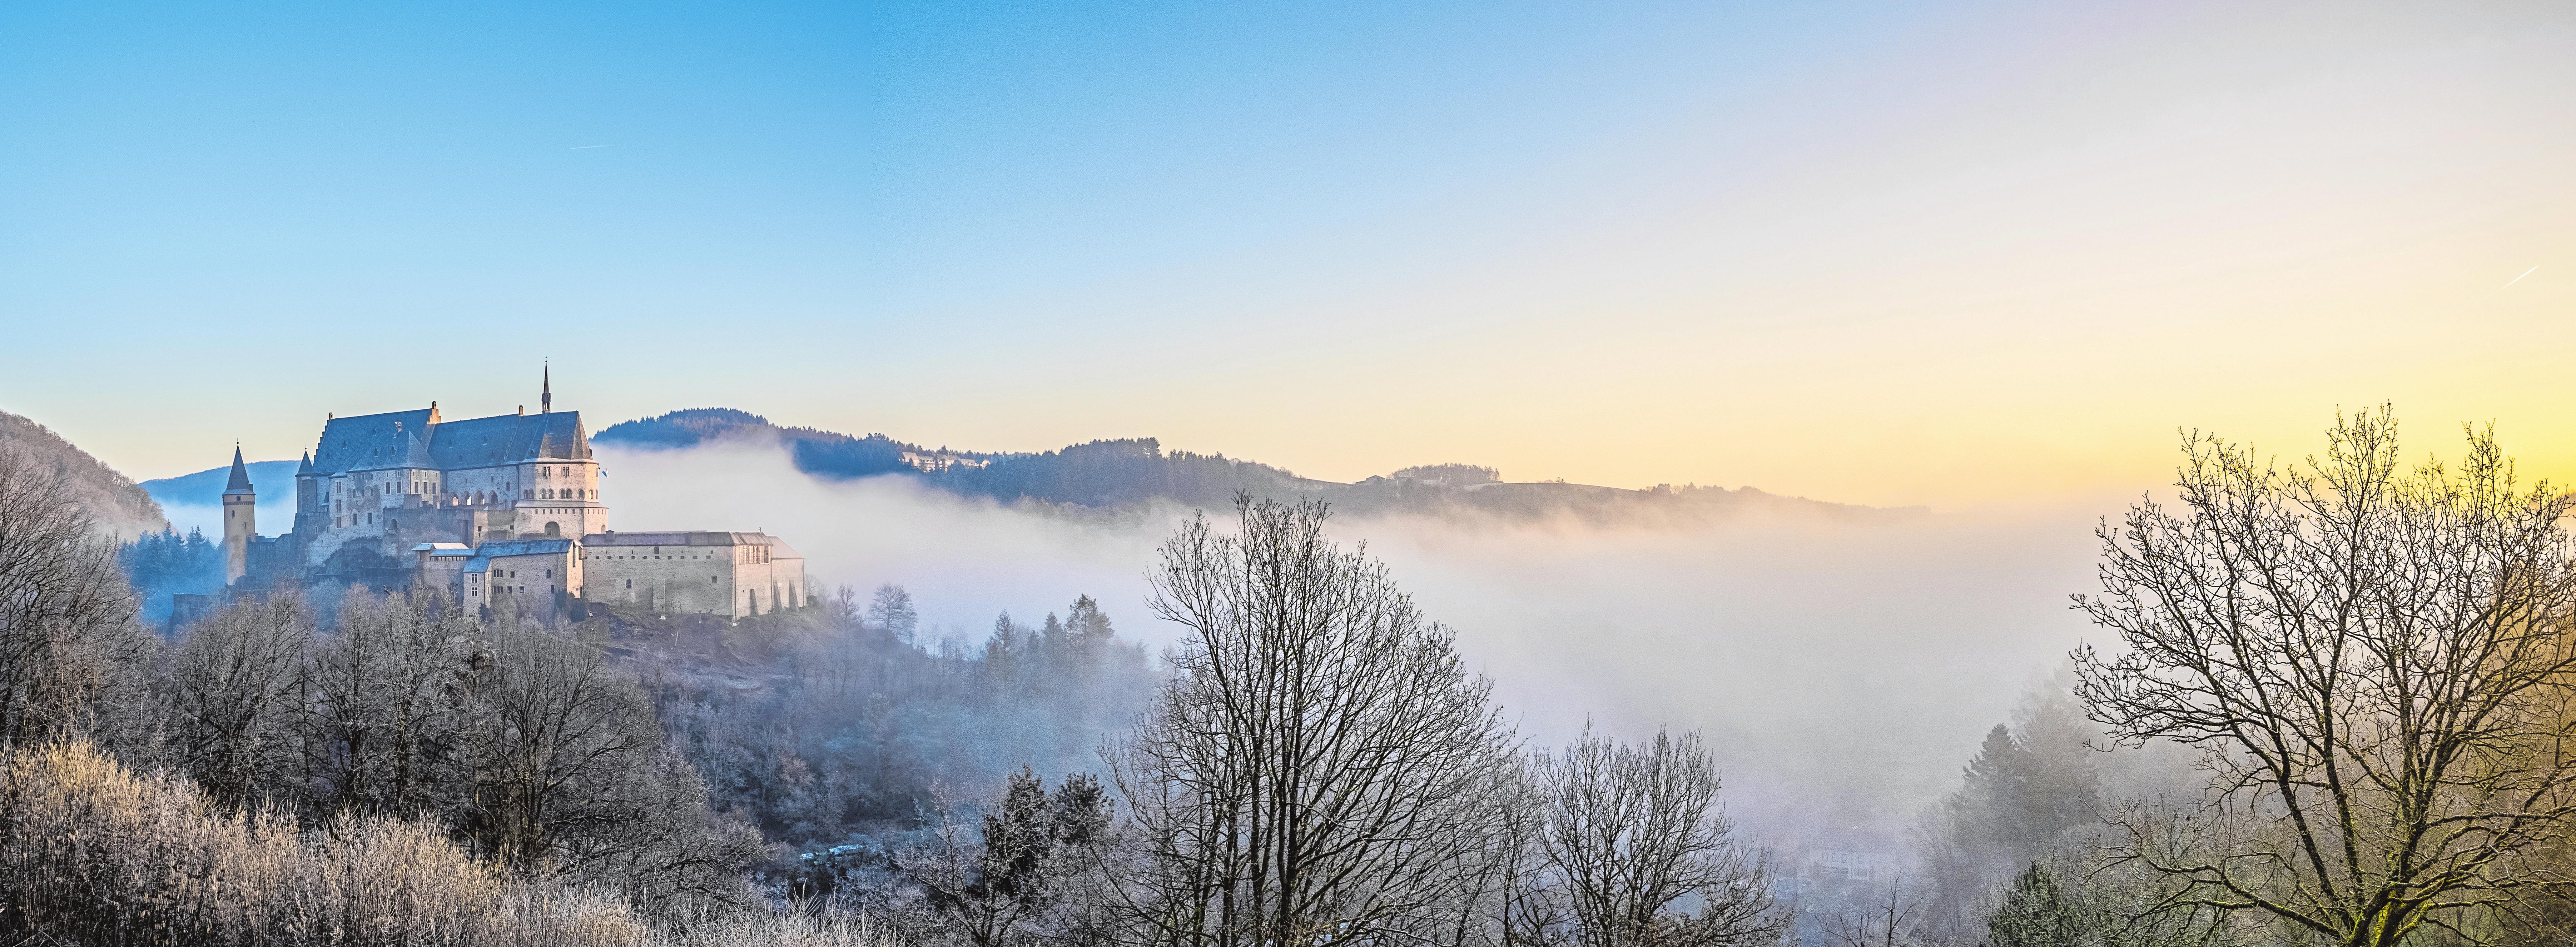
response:
<path id="1" fill-rule="evenodd" d="M 765 908 L 742 875 L 760 834 L 706 805 L 600 648 L 363 592 L 330 633 L 273 594 L 165 643 L 124 548 L 18 461 L 0 453 L 0 942 L 858 939 Z"/>

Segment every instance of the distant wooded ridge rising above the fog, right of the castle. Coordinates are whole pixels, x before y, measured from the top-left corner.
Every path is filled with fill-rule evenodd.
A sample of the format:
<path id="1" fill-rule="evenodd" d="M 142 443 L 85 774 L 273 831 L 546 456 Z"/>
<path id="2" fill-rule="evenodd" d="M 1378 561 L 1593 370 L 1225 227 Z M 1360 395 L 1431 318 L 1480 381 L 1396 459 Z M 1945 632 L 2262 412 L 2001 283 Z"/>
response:
<path id="1" fill-rule="evenodd" d="M 737 409 L 685 409 L 603 427 L 590 437 L 623 448 L 696 448 L 708 443 L 775 443 L 799 471 L 827 479 L 899 473 L 999 502 L 1118 507 L 1172 499 L 1224 507 L 1236 492 L 1255 497 L 1321 497 L 1355 515 L 1502 515 L 1577 517 L 1589 522 L 1710 520 L 1744 510 L 1801 515 L 1901 515 L 1919 510 L 1850 507 L 1775 497 L 1752 486 L 1618 489 L 1584 484 L 1510 484 L 1502 471 L 1471 463 L 1414 466 L 1358 484 L 1316 481 L 1221 453 L 1162 450 L 1154 437 L 1092 440 L 1046 453 L 979 453 L 922 448 L 886 435 L 842 435 L 781 427 Z"/>

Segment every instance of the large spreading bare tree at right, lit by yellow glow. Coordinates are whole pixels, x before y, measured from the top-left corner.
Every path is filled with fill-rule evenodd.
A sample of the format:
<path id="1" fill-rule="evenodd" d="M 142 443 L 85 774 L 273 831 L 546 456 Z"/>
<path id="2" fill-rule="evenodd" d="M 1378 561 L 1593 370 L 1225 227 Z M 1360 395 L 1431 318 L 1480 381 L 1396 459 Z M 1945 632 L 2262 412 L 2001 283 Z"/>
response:
<path id="1" fill-rule="evenodd" d="M 2527 860 L 2576 813 L 2576 499 L 2519 489 L 2494 430 L 2401 471 L 2383 407 L 2295 471 L 2192 435 L 2179 510 L 2102 525 L 2120 654 L 2079 695 L 2128 741 L 2208 751 L 2200 816 L 2128 808 L 2120 857 L 2169 908 L 2259 911 L 2339 944 L 2463 929 L 2563 883 Z"/>

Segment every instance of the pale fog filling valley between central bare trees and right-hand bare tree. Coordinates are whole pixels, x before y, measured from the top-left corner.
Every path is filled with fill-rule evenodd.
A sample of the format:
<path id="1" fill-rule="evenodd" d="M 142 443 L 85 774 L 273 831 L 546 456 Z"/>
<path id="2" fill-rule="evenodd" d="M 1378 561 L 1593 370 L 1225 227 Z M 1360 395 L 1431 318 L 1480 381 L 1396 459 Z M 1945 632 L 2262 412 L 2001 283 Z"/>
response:
<path id="1" fill-rule="evenodd" d="M 2089 589 L 2092 517 L 1350 528 L 1530 739 L 1698 728 L 1754 834 L 1880 849 L 2081 641 L 2066 594 Z"/>

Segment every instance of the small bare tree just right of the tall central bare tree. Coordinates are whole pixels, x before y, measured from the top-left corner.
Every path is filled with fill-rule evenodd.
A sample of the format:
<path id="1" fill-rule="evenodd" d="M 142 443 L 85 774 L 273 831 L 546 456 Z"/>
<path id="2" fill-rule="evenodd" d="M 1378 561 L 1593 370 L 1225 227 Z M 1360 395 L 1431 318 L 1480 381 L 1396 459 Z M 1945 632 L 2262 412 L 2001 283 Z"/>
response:
<path id="1" fill-rule="evenodd" d="M 1584 728 L 1538 759 L 1540 847 L 1579 947 L 1716 947 L 1788 929 L 1770 872 L 1731 839 L 1718 767 L 1700 733 L 1615 744 Z M 1698 901 L 1698 911 L 1674 906 Z"/>

